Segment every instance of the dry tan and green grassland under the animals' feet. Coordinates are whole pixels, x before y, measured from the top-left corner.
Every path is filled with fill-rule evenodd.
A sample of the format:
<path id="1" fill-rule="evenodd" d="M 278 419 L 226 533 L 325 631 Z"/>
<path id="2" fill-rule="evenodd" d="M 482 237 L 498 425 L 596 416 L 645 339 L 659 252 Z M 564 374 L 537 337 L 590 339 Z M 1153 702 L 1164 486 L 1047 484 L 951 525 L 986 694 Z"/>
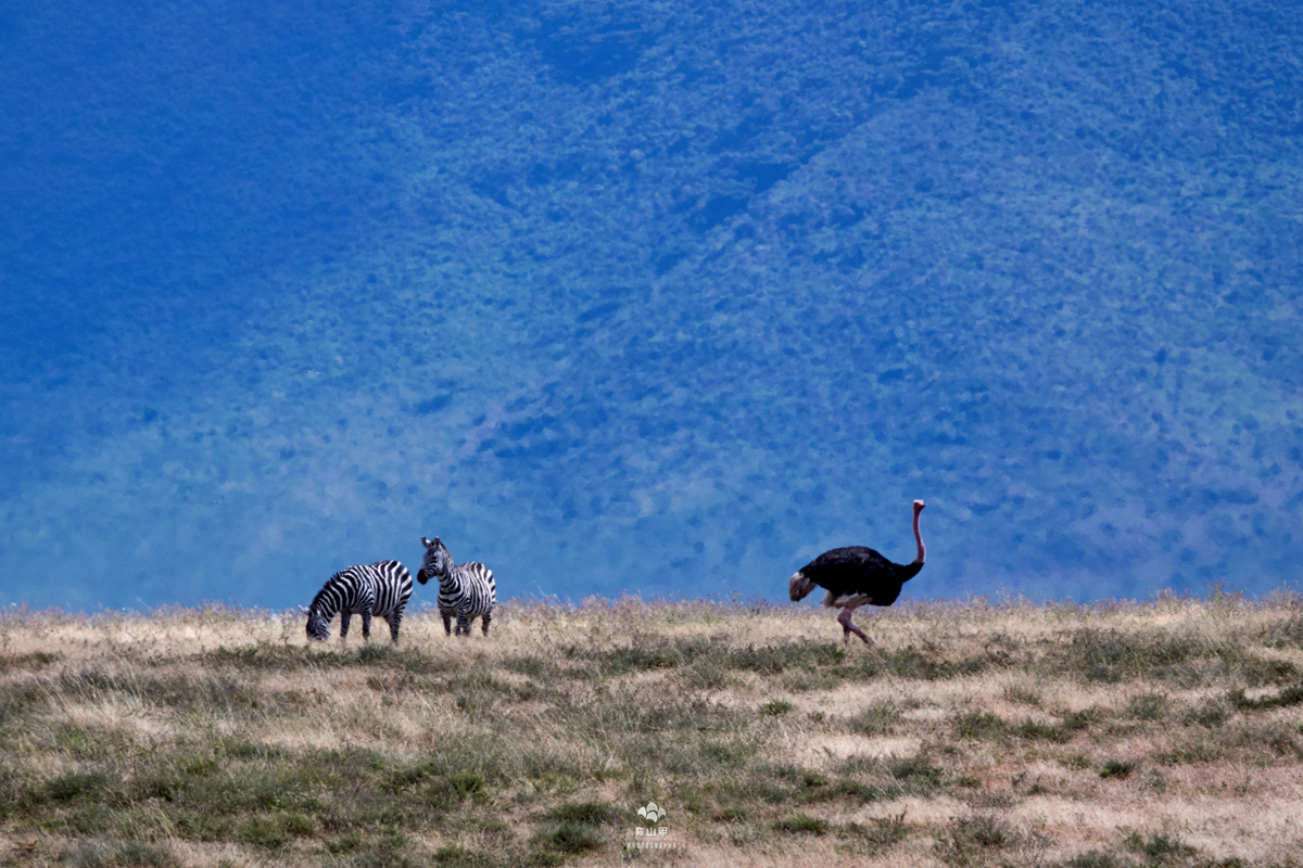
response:
<path id="1" fill-rule="evenodd" d="M 0 864 L 1303 864 L 1298 596 L 863 621 L 507 604 L 394 649 L 10 612 Z M 625 846 L 649 800 L 675 847 Z"/>

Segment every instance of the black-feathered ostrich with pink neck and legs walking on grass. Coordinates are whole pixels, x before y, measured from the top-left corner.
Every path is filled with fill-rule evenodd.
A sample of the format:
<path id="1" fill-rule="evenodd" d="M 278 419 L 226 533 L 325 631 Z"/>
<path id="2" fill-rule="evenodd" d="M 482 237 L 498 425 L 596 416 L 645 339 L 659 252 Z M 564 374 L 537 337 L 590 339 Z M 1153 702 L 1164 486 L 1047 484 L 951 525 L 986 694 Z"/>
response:
<path id="1" fill-rule="evenodd" d="M 919 534 L 919 514 L 923 501 L 913 501 L 913 539 L 919 544 L 919 557 L 913 563 L 893 563 L 870 548 L 850 545 L 847 548 L 823 552 L 817 558 L 797 570 L 787 580 L 792 601 L 800 600 L 814 590 L 814 586 L 827 590 L 823 597 L 826 608 L 838 608 L 837 616 L 842 625 L 842 639 L 851 643 L 853 632 L 865 644 L 873 640 L 851 623 L 851 613 L 861 605 L 889 606 L 900 596 L 900 586 L 919 575 L 923 569 L 925 550 L 923 535 Z"/>

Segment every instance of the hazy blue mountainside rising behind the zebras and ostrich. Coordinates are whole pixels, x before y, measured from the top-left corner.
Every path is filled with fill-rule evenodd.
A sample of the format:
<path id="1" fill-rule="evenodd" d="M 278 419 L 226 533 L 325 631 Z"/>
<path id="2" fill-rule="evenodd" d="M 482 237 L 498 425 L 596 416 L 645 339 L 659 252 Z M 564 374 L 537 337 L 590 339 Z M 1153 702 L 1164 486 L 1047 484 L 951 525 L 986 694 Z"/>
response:
<path id="1" fill-rule="evenodd" d="M 915 497 L 916 596 L 1296 588 L 1300 100 L 1293 0 L 5 4 L 0 603 L 782 599 Z"/>

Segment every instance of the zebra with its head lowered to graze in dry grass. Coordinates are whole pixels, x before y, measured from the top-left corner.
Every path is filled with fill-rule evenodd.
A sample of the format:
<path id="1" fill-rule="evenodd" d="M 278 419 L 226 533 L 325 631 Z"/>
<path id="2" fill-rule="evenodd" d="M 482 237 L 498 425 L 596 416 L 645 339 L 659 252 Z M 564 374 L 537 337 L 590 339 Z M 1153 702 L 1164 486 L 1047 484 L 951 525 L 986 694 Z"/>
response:
<path id="1" fill-rule="evenodd" d="M 397 561 L 351 566 L 330 576 L 308 608 L 308 638 L 330 639 L 330 621 L 339 612 L 339 638 L 348 636 L 348 619 L 362 616 L 362 638 L 371 638 L 371 617 L 390 622 L 399 640 L 403 609 L 412 596 L 412 574 Z"/>

